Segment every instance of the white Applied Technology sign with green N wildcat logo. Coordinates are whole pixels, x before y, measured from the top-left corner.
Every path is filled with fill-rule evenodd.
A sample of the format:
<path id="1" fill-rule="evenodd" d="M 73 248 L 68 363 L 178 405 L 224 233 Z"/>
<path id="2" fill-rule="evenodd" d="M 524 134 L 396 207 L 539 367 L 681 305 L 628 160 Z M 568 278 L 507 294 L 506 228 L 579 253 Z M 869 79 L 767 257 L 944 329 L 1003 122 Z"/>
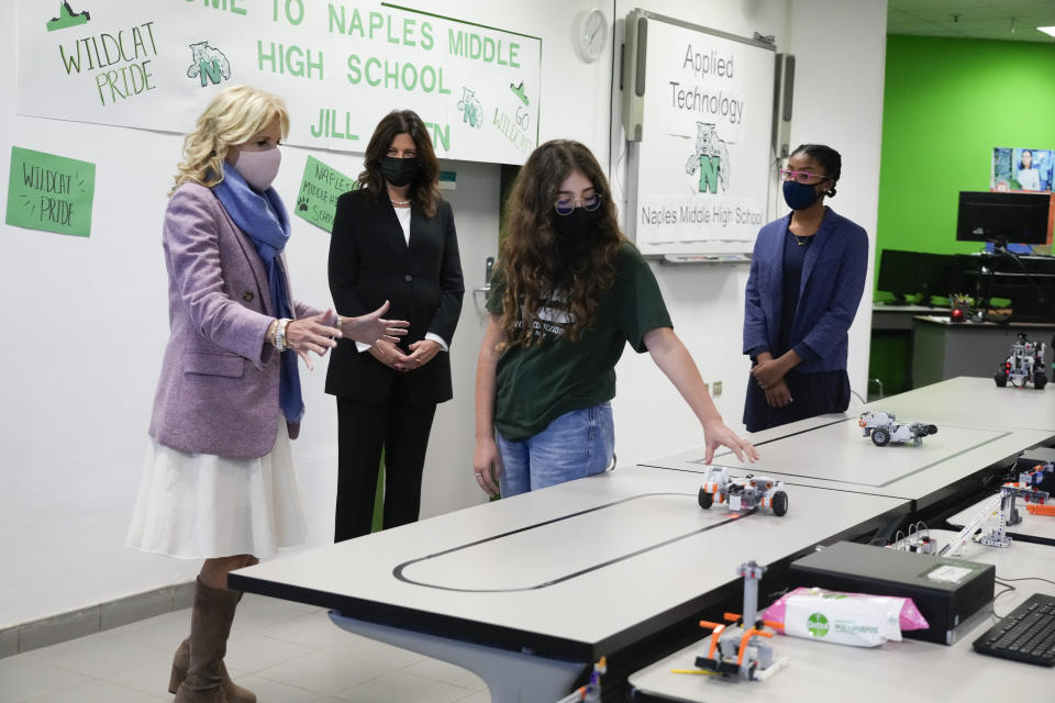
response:
<path id="1" fill-rule="evenodd" d="M 637 241 L 753 241 L 766 221 L 771 115 L 771 85 L 753 63 L 771 55 L 662 22 L 649 24 L 649 45 L 642 158 L 652 179 Z"/>

